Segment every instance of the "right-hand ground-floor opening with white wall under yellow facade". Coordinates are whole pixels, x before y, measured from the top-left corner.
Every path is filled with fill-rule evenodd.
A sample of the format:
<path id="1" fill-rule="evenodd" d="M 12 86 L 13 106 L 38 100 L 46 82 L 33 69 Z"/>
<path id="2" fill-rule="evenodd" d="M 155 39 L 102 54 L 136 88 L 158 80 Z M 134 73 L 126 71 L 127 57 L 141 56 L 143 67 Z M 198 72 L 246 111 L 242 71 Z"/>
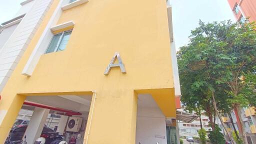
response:
<path id="1" fill-rule="evenodd" d="M 136 144 L 175 144 L 175 118 L 166 118 L 150 94 L 138 94 Z"/>

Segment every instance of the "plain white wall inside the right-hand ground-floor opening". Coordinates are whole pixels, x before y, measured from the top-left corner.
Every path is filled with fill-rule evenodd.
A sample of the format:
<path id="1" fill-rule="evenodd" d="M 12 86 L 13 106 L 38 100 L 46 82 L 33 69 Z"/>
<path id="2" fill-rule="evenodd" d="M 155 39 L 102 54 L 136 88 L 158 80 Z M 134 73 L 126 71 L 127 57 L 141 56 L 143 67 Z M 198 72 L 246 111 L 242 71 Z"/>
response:
<path id="1" fill-rule="evenodd" d="M 151 95 L 148 96 L 152 99 Z M 143 99 L 144 100 L 144 99 Z M 156 103 L 154 102 L 156 105 Z M 166 144 L 165 117 L 158 106 L 140 105 L 137 107 L 136 144 Z"/>

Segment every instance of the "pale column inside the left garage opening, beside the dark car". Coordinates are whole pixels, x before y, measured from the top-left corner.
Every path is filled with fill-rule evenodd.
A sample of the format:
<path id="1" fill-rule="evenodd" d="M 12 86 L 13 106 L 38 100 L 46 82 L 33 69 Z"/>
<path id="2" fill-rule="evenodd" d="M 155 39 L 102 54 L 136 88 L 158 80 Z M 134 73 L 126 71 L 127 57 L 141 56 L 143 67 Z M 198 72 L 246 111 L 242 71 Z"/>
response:
<path id="1" fill-rule="evenodd" d="M 45 120 L 49 114 L 49 109 L 35 107 L 29 124 L 26 128 L 26 141 L 27 143 L 33 143 L 38 137 L 40 137 Z"/>

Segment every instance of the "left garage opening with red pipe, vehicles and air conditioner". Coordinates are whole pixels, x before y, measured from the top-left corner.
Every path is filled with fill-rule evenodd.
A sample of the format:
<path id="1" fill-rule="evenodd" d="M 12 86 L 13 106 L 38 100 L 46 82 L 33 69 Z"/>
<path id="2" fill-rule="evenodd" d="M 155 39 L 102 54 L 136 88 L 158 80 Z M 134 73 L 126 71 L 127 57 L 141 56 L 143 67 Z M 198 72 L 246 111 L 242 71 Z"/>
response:
<path id="1" fill-rule="evenodd" d="M 82 144 L 91 95 L 27 96 L 6 143 L 34 143 L 44 137 L 45 144 L 65 140 Z"/>

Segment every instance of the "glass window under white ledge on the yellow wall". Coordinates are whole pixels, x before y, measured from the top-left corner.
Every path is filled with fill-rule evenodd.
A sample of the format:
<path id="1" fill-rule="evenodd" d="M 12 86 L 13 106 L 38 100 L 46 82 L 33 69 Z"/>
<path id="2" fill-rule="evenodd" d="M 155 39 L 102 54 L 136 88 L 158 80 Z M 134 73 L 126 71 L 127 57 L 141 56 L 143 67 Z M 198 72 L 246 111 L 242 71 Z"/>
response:
<path id="1" fill-rule="evenodd" d="M 72 30 L 54 34 L 45 53 L 62 51 L 65 49 Z"/>

